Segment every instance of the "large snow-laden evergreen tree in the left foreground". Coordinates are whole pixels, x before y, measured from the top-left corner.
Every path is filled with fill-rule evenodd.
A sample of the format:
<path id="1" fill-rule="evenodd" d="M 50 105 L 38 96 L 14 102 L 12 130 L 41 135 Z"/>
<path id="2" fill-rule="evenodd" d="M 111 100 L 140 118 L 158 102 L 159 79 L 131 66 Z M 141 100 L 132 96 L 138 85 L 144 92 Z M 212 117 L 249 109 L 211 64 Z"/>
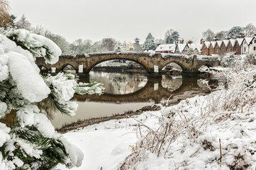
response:
<path id="1" fill-rule="evenodd" d="M 0 29 L 0 169 L 52 169 L 80 166 L 83 153 L 55 132 L 38 103 L 74 115 L 74 94 L 101 94 L 101 84 L 77 84 L 73 74 L 41 77 L 35 57 L 54 64 L 61 50 L 28 30 Z"/>

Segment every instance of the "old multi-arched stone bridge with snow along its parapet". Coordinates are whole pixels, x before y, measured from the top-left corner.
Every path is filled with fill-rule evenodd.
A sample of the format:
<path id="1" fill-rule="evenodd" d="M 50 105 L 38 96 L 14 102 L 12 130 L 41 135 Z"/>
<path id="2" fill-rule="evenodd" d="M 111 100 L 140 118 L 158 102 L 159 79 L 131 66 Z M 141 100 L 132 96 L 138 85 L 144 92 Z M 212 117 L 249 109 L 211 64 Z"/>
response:
<path id="1" fill-rule="evenodd" d="M 77 56 L 60 56 L 55 64 L 46 64 L 43 57 L 37 57 L 35 63 L 40 69 L 50 72 L 55 67 L 54 72 L 61 72 L 67 65 L 74 67 L 77 73 L 89 74 L 92 68 L 101 62 L 108 60 L 130 60 L 142 65 L 148 74 L 157 75 L 161 73 L 162 68 L 167 64 L 174 62 L 182 67 L 182 72 L 197 73 L 198 69 L 206 65 L 215 67 L 219 65 L 218 57 L 209 57 L 201 55 L 177 55 L 177 54 L 160 54 L 149 52 L 100 52 L 90 53 Z M 54 70 L 54 69 L 53 69 Z"/>

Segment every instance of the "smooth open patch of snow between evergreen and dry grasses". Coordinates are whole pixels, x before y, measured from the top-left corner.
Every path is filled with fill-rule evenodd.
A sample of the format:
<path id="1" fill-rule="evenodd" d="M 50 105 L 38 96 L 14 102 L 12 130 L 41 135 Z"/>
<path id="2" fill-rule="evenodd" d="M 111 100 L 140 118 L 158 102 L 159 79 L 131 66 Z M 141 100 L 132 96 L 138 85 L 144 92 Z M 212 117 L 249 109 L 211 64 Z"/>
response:
<path id="1" fill-rule="evenodd" d="M 64 135 L 67 140 L 84 152 L 82 166 L 74 169 L 118 169 L 138 141 L 138 123 L 156 127 L 160 114 L 159 111 L 145 112 L 134 118 L 109 120 L 67 132 Z M 65 169 L 65 166 L 60 165 L 56 169 Z"/>

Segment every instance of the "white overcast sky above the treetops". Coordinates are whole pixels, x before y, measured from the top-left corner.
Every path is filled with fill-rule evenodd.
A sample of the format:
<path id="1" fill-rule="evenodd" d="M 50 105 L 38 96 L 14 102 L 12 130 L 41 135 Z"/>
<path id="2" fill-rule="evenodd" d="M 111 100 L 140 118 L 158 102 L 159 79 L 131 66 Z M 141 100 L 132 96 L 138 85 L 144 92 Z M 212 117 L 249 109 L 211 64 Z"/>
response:
<path id="1" fill-rule="evenodd" d="M 197 40 L 207 28 L 256 26 L 256 0 L 10 0 L 18 21 L 23 13 L 69 42 L 78 38 L 144 42 L 148 33 L 163 39 L 177 30 L 185 40 Z"/>

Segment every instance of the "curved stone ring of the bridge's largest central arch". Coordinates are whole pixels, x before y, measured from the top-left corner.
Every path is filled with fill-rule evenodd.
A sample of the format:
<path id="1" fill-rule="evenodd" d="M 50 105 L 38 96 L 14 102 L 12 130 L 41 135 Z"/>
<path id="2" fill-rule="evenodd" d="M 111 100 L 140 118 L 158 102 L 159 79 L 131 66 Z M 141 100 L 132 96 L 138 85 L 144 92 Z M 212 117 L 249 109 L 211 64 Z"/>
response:
<path id="1" fill-rule="evenodd" d="M 140 64 L 148 73 L 150 73 L 150 70 L 148 69 L 148 67 L 145 64 L 143 64 L 143 62 L 135 60 L 135 59 L 133 59 L 131 57 L 120 57 L 120 56 L 106 58 L 106 59 L 102 58 L 101 60 L 99 60 L 97 62 L 94 62 L 94 64 L 91 64 L 89 66 L 89 68 L 87 69 L 86 73 L 89 73 L 91 71 L 91 69 L 93 69 L 97 64 L 100 64 L 101 62 L 110 61 L 110 60 L 128 60 L 128 61 L 136 62 L 136 63 Z"/>

